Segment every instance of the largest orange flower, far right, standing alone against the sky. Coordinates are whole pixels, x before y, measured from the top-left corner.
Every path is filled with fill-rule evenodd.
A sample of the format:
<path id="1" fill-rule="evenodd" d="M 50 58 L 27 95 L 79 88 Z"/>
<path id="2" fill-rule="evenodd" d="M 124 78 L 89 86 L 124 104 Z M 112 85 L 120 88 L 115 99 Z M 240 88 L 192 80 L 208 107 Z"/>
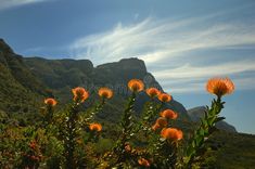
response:
<path id="1" fill-rule="evenodd" d="M 212 78 L 207 81 L 206 89 L 209 93 L 221 96 L 232 93 L 234 84 L 229 78 Z"/>

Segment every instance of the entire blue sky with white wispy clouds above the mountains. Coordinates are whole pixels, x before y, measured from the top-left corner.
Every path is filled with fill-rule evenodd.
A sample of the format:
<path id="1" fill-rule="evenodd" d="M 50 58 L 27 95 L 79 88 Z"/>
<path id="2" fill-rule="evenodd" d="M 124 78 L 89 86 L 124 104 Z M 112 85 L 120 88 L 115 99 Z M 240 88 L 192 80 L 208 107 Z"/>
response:
<path id="1" fill-rule="evenodd" d="M 89 58 L 136 56 L 187 108 L 211 103 L 209 77 L 235 92 L 222 115 L 255 133 L 255 1 L 0 0 L 0 37 L 16 53 Z"/>

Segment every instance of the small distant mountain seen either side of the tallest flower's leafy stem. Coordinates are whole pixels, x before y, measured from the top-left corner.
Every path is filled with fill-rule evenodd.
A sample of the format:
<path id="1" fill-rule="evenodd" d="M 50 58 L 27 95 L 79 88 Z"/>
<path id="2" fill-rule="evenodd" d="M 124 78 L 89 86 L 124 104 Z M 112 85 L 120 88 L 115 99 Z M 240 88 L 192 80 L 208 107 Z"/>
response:
<path id="1" fill-rule="evenodd" d="M 200 119 L 204 117 L 205 110 L 206 110 L 205 106 L 199 106 L 199 107 L 188 109 L 188 115 L 190 116 L 192 121 L 199 122 Z M 237 132 L 235 128 L 226 121 L 217 122 L 216 128 L 228 131 L 228 132 Z"/>

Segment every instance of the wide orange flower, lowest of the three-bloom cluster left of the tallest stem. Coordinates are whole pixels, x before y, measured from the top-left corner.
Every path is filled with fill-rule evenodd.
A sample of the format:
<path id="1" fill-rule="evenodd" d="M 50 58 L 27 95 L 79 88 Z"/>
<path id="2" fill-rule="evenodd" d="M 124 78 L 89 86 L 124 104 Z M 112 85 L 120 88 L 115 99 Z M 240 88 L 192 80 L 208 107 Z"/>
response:
<path id="1" fill-rule="evenodd" d="M 181 130 L 175 129 L 175 128 L 165 128 L 161 132 L 162 138 L 173 140 L 173 141 L 179 141 L 182 139 L 183 133 Z"/>

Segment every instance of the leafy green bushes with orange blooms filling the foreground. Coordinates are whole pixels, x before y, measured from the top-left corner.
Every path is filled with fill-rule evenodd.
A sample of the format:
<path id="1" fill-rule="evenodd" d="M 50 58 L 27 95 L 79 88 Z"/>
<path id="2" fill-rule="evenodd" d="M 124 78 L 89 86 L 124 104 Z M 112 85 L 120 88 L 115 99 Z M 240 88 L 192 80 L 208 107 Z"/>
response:
<path id="1" fill-rule="evenodd" d="M 72 90 L 73 102 L 55 110 L 58 101 L 44 100 L 41 118 L 35 125 L 15 127 L 1 115 L 0 161 L 3 168 L 197 168 L 204 164 L 206 142 L 215 131 L 224 102 L 233 91 L 229 79 L 211 79 L 207 91 L 217 95 L 207 107 L 200 127 L 191 136 L 174 127 L 178 114 L 164 108 L 171 96 L 156 88 L 146 89 L 150 98 L 140 117 L 133 114 L 138 93 L 144 90 L 139 79 L 128 82 L 131 91 L 118 128 L 117 138 L 107 136 L 104 126 L 95 121 L 113 91 L 101 88 L 100 101 L 84 109 L 89 92 Z M 157 101 L 157 102 L 156 102 Z M 102 132 L 102 133 L 101 133 Z M 102 145 L 103 144 L 103 145 Z M 106 146 L 105 146 L 106 144 Z M 102 147 L 102 150 L 99 147 Z M 97 150 L 98 148 L 98 150 Z"/>

